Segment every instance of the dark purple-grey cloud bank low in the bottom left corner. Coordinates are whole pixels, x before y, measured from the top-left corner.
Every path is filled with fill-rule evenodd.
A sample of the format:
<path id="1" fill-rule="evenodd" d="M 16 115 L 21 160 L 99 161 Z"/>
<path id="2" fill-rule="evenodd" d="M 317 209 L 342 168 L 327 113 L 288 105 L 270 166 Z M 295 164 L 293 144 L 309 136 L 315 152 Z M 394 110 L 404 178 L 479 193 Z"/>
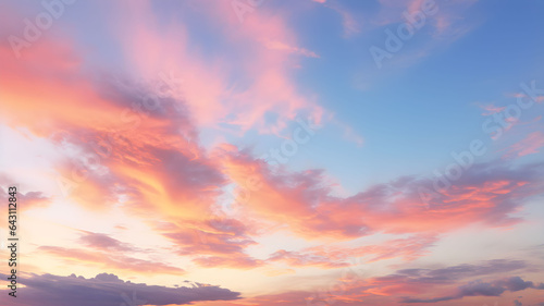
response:
<path id="1" fill-rule="evenodd" d="M 2 279 L 8 276 L 1 274 Z M 115 274 L 101 273 L 85 279 L 72 274 L 30 274 L 17 278 L 26 287 L 17 290 L 17 305 L 22 306 L 120 306 L 129 305 L 186 305 L 198 301 L 233 301 L 240 298 L 240 293 L 217 285 L 190 283 L 190 286 L 168 287 L 123 281 Z M 185 281 L 187 283 L 187 281 Z M 5 290 L 4 290 L 5 291 Z M 2 293 L 0 304 L 8 298 Z"/>

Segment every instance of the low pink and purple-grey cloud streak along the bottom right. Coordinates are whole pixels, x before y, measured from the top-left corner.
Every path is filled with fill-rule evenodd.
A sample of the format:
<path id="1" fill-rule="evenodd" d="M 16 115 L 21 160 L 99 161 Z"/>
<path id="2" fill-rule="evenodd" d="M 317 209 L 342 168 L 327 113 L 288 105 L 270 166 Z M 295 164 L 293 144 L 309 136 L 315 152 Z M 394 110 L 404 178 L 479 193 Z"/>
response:
<path id="1" fill-rule="evenodd" d="M 281 254 L 288 255 L 288 254 Z M 294 260 L 307 260 L 295 257 Z M 314 258 L 314 264 L 320 258 Z M 311 264 L 311 262 L 307 262 Z M 361 279 L 346 268 L 334 285 L 313 291 L 287 291 L 277 294 L 259 295 L 243 303 L 221 304 L 228 306 L 282 305 L 297 306 L 301 301 L 308 305 L 319 305 L 326 301 L 335 301 L 338 305 L 399 305 L 404 304 L 437 304 L 455 301 L 463 296 L 499 296 L 505 291 L 520 289 L 530 282 L 518 277 L 498 278 L 502 274 L 523 271 L 530 268 L 522 260 L 495 259 L 473 265 L 458 265 L 437 269 L 400 269 L 395 273 Z M 470 281 L 478 278 L 495 279 L 491 282 Z M 426 297 L 436 289 L 449 291 L 443 296 Z M 412 296 L 406 296 L 406 294 Z M 421 296 L 418 296 L 420 295 Z M 425 296 L 425 297 L 423 297 Z"/>

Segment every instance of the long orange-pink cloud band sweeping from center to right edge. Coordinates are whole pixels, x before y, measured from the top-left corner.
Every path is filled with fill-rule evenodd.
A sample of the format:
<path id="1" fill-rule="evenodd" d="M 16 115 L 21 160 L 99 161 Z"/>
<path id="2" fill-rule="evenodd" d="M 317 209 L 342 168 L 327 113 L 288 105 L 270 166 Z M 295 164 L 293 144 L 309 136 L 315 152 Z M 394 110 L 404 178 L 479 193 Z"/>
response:
<path id="1" fill-rule="evenodd" d="M 509 213 L 541 185 L 536 179 L 541 166 L 509 169 L 478 164 L 446 192 L 434 193 L 428 207 L 418 193 L 426 182 L 410 176 L 338 198 L 331 195 L 333 185 L 319 170 L 272 170 L 240 151 L 226 154 L 223 164 L 223 172 L 238 186 L 246 186 L 247 178 L 258 182 L 254 191 L 238 193 L 240 208 L 256 218 L 286 224 L 307 238 L 349 240 L 376 231 L 433 234 L 470 223 L 511 224 L 519 219 Z"/>

